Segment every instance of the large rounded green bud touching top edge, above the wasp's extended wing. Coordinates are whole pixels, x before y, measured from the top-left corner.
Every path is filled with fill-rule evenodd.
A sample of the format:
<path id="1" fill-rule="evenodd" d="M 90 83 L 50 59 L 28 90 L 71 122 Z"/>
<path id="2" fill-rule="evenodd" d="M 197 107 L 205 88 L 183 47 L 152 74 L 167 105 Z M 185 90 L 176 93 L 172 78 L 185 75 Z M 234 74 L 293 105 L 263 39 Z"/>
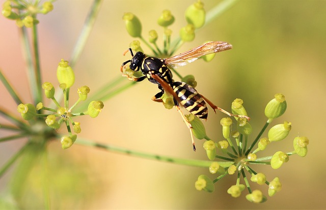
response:
<path id="1" fill-rule="evenodd" d="M 189 6 L 185 11 L 185 19 L 189 24 L 193 24 L 195 28 L 200 28 L 205 24 L 206 12 L 204 4 L 198 1 Z"/>

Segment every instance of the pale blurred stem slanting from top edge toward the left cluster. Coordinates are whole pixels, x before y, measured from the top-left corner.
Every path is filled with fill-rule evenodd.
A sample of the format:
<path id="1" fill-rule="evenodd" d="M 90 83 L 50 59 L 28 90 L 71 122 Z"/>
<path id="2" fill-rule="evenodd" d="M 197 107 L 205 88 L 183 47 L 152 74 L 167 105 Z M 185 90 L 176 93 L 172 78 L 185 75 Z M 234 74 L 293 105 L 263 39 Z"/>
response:
<path id="1" fill-rule="evenodd" d="M 75 47 L 71 53 L 70 57 L 70 66 L 73 67 L 77 60 L 80 58 L 80 55 L 82 54 L 82 51 L 84 50 L 84 47 L 86 45 L 86 41 L 88 37 L 90 36 L 91 30 L 94 26 L 96 17 L 98 15 L 98 12 L 100 10 L 100 6 L 102 4 L 103 0 L 94 0 L 92 7 L 90 9 L 90 12 L 88 13 L 83 29 L 79 34 L 78 40 L 75 44 Z"/>

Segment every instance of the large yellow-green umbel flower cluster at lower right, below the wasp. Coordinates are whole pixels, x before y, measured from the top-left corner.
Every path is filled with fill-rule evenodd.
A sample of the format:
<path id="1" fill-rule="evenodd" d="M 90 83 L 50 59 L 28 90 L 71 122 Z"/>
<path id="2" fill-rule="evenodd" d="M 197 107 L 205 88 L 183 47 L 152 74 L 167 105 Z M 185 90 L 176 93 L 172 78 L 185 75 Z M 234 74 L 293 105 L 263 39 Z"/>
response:
<path id="1" fill-rule="evenodd" d="M 235 99 L 232 102 L 232 112 L 234 114 L 247 115 L 246 110 L 242 106 L 241 99 Z M 271 156 L 259 157 L 259 151 L 265 150 L 270 143 L 280 142 L 285 139 L 290 130 L 291 123 L 284 121 L 284 123 L 274 125 L 271 127 L 267 136 L 263 133 L 267 126 L 276 118 L 284 114 L 286 110 L 286 100 L 283 94 L 276 94 L 275 98 L 270 100 L 265 107 L 265 116 L 267 121 L 257 137 L 250 143 L 249 136 L 252 133 L 252 126 L 244 118 L 236 118 L 236 128 L 232 129 L 233 121 L 231 118 L 222 118 L 222 133 L 224 140 L 214 142 L 206 135 L 205 127 L 202 122 L 196 117 L 188 117 L 189 122 L 194 127 L 193 132 L 197 138 L 209 139 L 204 142 L 203 147 L 206 150 L 207 157 L 213 161 L 209 166 L 209 172 L 212 174 L 219 174 L 214 180 L 209 179 L 205 175 L 198 177 L 195 183 L 197 190 L 204 190 L 213 192 L 214 183 L 221 180 L 223 177 L 237 173 L 237 180 L 235 185 L 232 185 L 227 192 L 232 197 L 239 197 L 244 189 L 248 189 L 249 194 L 246 198 L 255 203 L 261 203 L 267 200 L 266 196 L 260 190 L 252 190 L 251 182 L 258 185 L 266 185 L 268 187 L 267 193 L 269 196 L 274 196 L 282 188 L 282 184 L 278 177 L 267 181 L 264 173 L 255 171 L 252 165 L 270 165 L 277 169 L 289 161 L 289 156 L 297 154 L 305 157 L 307 155 L 307 145 L 309 139 L 305 136 L 297 136 L 293 139 L 293 151 L 284 152 L 277 151 Z M 218 154 L 219 153 L 219 154 Z M 216 161 L 216 160 L 224 161 Z M 249 172 L 249 177 L 246 174 Z M 240 177 L 243 177 L 244 184 L 240 184 Z"/>

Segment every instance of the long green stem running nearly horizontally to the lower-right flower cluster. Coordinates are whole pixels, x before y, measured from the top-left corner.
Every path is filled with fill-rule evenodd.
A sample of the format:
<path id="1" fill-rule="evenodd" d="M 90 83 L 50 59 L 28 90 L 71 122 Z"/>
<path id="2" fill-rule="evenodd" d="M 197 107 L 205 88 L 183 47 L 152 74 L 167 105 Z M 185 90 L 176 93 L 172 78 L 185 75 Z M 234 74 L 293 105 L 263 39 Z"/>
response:
<path id="1" fill-rule="evenodd" d="M 145 153 L 145 152 L 137 152 L 137 151 L 129 150 L 126 148 L 121 148 L 121 147 L 116 147 L 116 146 L 111 146 L 111 145 L 104 145 L 101 143 L 94 143 L 94 142 L 90 142 L 90 141 L 87 141 L 87 140 L 81 139 L 81 138 L 77 138 L 75 144 L 90 146 L 90 147 L 94 147 L 94 148 L 100 148 L 100 149 L 104 149 L 106 151 L 121 153 L 121 154 L 134 156 L 134 157 L 141 157 L 141 158 L 145 158 L 145 159 L 157 160 L 157 161 L 162 161 L 162 162 L 170 162 L 170 163 L 176 163 L 176 164 L 181 164 L 181 165 L 209 167 L 210 164 L 212 163 L 212 161 L 182 159 L 182 158 L 161 156 L 161 155 Z M 228 167 L 232 163 L 231 162 L 219 162 L 219 164 L 222 167 Z"/>

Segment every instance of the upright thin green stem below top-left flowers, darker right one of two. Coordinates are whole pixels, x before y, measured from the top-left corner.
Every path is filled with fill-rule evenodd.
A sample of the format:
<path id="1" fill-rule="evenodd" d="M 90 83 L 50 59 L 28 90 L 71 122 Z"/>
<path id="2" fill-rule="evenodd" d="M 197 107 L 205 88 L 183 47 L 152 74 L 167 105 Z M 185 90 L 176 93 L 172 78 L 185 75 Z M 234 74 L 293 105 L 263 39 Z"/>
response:
<path id="1" fill-rule="evenodd" d="M 39 44 L 38 44 L 38 33 L 37 33 L 37 24 L 33 24 L 33 46 L 34 46 L 34 61 L 35 61 L 35 82 L 36 88 L 34 94 L 34 104 L 42 101 L 42 80 L 41 80 L 41 67 L 40 67 L 40 54 L 39 54 Z"/>

